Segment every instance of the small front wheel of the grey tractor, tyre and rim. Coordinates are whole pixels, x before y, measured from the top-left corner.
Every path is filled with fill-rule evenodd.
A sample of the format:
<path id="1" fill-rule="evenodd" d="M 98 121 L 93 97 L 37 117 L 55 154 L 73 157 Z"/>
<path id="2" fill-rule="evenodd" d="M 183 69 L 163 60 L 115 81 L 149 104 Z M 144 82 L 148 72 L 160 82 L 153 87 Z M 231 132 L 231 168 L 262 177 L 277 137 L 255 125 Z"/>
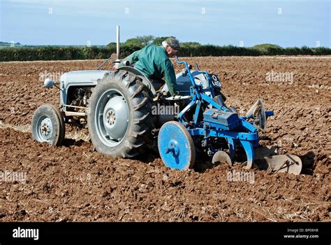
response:
<path id="1" fill-rule="evenodd" d="M 64 141 L 64 118 L 51 104 L 39 106 L 32 117 L 32 137 L 38 142 L 60 146 Z"/>

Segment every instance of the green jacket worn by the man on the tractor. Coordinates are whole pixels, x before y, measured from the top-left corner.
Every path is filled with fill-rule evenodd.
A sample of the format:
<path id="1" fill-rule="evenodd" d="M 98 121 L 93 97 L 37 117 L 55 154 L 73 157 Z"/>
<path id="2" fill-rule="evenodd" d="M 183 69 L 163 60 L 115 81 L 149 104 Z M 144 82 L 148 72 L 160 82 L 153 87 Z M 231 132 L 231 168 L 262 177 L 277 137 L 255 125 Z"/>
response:
<path id="1" fill-rule="evenodd" d="M 163 46 L 147 45 L 123 60 L 127 60 L 130 64 L 135 63 L 135 69 L 141 71 L 147 78 L 161 80 L 164 77 L 171 95 L 177 91 L 174 66 Z M 124 64 L 120 63 L 119 67 L 122 66 Z"/>

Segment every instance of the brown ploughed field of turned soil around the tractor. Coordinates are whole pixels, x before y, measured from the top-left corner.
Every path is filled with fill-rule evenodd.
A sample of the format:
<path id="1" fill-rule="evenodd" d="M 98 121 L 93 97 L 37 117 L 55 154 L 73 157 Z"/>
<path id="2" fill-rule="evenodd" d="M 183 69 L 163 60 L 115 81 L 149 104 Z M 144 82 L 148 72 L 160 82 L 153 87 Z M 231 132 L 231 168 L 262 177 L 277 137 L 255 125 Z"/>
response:
<path id="1" fill-rule="evenodd" d="M 102 61 L 2 62 L 0 221 L 331 221 L 331 57 L 185 60 L 216 73 L 226 104 L 241 115 L 262 99 L 275 116 L 261 144 L 299 155 L 303 174 L 203 160 L 179 172 L 152 152 L 106 158 L 93 151 L 87 130 L 73 127 L 64 146 L 39 144 L 29 133 L 34 111 L 59 106 L 59 90 L 43 88 L 43 75 L 59 80 Z"/>

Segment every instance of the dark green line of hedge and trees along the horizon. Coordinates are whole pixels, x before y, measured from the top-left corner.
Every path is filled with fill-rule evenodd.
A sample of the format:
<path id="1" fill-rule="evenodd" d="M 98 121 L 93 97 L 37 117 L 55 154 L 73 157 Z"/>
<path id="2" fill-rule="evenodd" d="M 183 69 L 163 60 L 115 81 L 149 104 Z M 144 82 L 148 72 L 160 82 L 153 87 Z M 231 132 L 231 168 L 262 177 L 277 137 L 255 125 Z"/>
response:
<path id="1" fill-rule="evenodd" d="M 130 55 L 145 45 L 161 45 L 167 37 L 137 36 L 121 43 L 121 57 Z M 181 57 L 198 56 L 259 56 L 259 55 L 331 55 L 331 49 L 325 47 L 282 48 L 279 45 L 261 44 L 253 47 L 234 45 L 201 45 L 196 42 L 180 43 Z M 105 46 L 35 46 L 0 48 L 0 61 L 32 60 L 70 60 L 70 59 L 106 59 L 116 52 L 116 43 Z"/>

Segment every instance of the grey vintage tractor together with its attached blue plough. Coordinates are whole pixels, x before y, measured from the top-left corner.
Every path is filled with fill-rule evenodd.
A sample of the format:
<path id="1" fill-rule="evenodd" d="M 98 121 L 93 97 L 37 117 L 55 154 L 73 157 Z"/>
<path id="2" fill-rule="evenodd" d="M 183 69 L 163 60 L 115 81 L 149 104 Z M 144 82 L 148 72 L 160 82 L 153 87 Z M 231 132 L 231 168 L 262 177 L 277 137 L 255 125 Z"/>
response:
<path id="1" fill-rule="evenodd" d="M 177 73 L 175 96 L 132 64 L 115 71 L 64 73 L 58 86 L 61 110 L 50 104 L 36 110 L 34 139 L 59 146 L 64 124 L 74 123 L 88 127 L 96 151 L 107 156 L 133 158 L 157 148 L 164 164 L 179 170 L 192 168 L 198 152 L 214 163 L 242 162 L 247 168 L 300 174 L 302 162 L 296 155 L 277 155 L 274 148 L 259 145 L 258 132 L 273 115 L 260 99 L 239 116 L 226 106 L 216 74 L 200 71 L 198 64 L 192 70 L 176 59 L 184 69 Z M 45 87 L 53 85 L 45 80 Z"/>

